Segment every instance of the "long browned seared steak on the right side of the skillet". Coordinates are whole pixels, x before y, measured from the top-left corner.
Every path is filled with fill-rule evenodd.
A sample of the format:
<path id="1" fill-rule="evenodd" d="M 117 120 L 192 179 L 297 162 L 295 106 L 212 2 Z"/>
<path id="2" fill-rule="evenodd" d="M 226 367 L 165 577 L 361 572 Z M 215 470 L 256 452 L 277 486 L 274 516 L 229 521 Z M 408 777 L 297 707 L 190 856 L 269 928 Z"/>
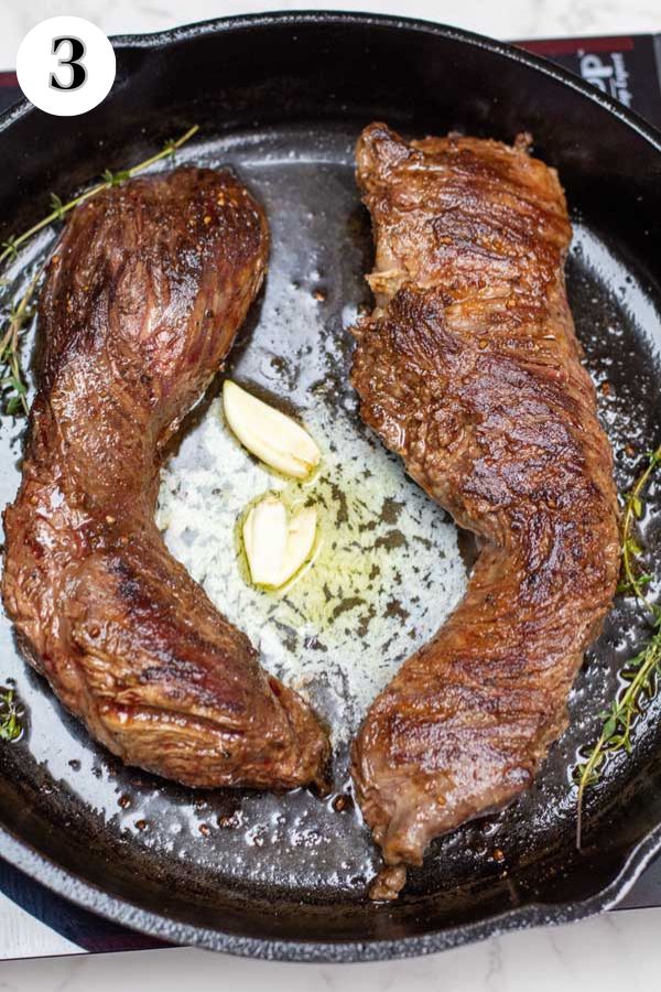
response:
<path id="1" fill-rule="evenodd" d="M 388 865 L 532 781 L 563 730 L 615 592 L 611 453 L 565 294 L 571 240 L 552 169 L 524 140 L 358 142 L 377 308 L 356 328 L 361 413 L 474 531 L 468 591 L 372 704 L 355 743 Z M 373 896 L 393 897 L 387 871 Z"/>

